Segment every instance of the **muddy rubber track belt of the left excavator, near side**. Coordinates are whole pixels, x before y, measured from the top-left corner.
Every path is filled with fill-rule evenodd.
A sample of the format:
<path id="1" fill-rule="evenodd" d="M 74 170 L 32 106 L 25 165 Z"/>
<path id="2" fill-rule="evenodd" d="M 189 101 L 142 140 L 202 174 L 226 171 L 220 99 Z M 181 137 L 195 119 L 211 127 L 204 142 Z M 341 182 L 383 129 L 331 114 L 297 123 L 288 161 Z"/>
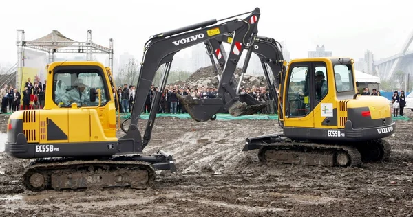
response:
<path id="1" fill-rule="evenodd" d="M 114 159 L 107 159 L 107 160 L 79 160 L 79 159 L 73 159 L 73 158 L 46 158 L 46 159 L 36 159 L 36 161 L 32 161 L 28 168 L 26 168 L 24 174 L 23 174 L 23 185 L 25 186 L 26 189 L 32 190 L 32 191 L 39 191 L 36 188 L 33 188 L 30 185 L 30 175 L 33 174 L 34 172 L 39 172 L 41 174 L 44 174 L 44 172 L 47 172 L 47 182 L 50 181 L 50 175 L 54 172 L 59 172 L 64 173 L 64 170 L 73 170 L 73 169 L 79 169 L 82 168 L 81 170 L 87 170 L 87 168 L 92 165 L 94 168 L 107 168 L 109 166 L 111 169 L 116 167 L 116 168 L 134 168 L 134 169 L 143 169 L 147 170 L 148 176 L 149 176 L 149 181 L 147 182 L 147 187 L 150 187 L 153 184 L 153 181 L 155 179 L 156 173 L 155 170 L 151 167 L 149 163 L 142 162 L 142 161 L 130 161 L 133 157 L 125 157 L 122 156 L 120 158 L 114 158 Z M 80 170 L 79 170 L 80 171 Z M 72 188 L 75 189 L 75 188 Z M 41 190 L 52 190 L 52 187 L 50 186 L 50 183 Z M 60 190 L 60 189 L 56 189 Z"/>

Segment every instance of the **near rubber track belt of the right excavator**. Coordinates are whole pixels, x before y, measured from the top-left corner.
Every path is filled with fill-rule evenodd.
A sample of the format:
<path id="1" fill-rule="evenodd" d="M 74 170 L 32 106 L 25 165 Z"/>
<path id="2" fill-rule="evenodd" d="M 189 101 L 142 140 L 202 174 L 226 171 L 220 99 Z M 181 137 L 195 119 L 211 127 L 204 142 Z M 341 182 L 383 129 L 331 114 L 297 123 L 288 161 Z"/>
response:
<path id="1" fill-rule="evenodd" d="M 273 144 L 266 144 L 260 148 L 258 151 L 258 159 L 265 162 L 265 152 L 267 150 L 290 150 L 299 151 L 301 149 L 307 148 L 308 153 L 322 153 L 322 152 L 346 152 L 350 157 L 350 164 L 348 167 L 360 167 L 361 166 L 361 155 L 357 148 L 352 146 L 339 146 L 339 145 L 325 145 L 325 144 L 315 144 L 315 143 L 294 143 L 294 142 L 279 142 Z"/>

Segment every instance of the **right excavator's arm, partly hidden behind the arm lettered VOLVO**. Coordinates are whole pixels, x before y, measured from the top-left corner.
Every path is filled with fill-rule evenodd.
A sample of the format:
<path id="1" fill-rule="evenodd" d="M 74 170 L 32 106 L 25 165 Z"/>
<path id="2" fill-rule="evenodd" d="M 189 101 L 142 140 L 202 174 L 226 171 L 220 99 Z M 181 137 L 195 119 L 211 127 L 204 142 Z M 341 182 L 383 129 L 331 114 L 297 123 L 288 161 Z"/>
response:
<path id="1" fill-rule="evenodd" d="M 211 56 L 215 56 L 216 60 L 218 61 L 218 65 L 225 65 L 225 50 L 224 47 L 222 46 L 222 43 L 231 43 L 233 38 L 233 34 L 224 34 L 220 37 L 217 38 L 211 38 L 208 42 L 206 42 L 207 50 L 211 50 Z M 266 78 L 266 82 L 268 85 L 268 89 L 273 96 L 275 100 L 275 105 L 277 105 L 277 112 L 279 114 L 279 119 L 282 119 L 282 116 L 284 115 L 282 113 L 282 104 L 279 104 L 279 95 L 277 94 L 277 89 L 276 87 L 279 87 L 280 90 L 282 90 L 282 87 L 279 86 L 280 84 L 283 84 L 284 82 L 284 77 L 285 77 L 285 72 L 286 72 L 286 67 L 284 66 L 284 57 L 282 55 L 282 47 L 279 45 L 277 41 L 273 38 L 268 38 L 264 36 L 256 36 L 255 38 L 255 43 L 252 47 L 248 48 L 248 51 L 251 50 L 254 54 L 256 54 L 260 58 L 260 62 L 262 64 L 262 69 L 264 71 L 264 76 Z M 248 61 L 251 58 L 251 52 L 247 52 L 245 62 L 244 62 L 244 67 L 242 68 L 242 73 L 240 76 L 239 82 L 231 82 L 231 85 L 237 84 L 236 87 L 236 92 L 239 93 L 240 91 L 240 84 L 242 82 L 242 77 L 244 76 L 244 73 L 246 72 L 246 68 L 248 67 Z M 215 65 L 215 61 L 213 58 L 211 58 L 213 61 L 213 65 Z M 271 72 L 273 73 L 271 76 L 271 73 L 268 71 L 268 67 L 270 67 Z M 218 67 L 215 67 L 217 70 L 218 76 L 219 76 L 219 71 Z M 235 80 L 235 77 L 233 78 Z M 233 86 L 235 88 L 235 86 Z M 242 102 L 247 101 L 247 99 L 243 96 L 250 96 L 250 95 L 240 95 L 240 98 L 242 99 Z M 255 100 L 253 98 L 253 100 Z M 252 102 L 248 102 L 248 104 L 252 104 Z M 280 126 L 283 126 L 282 122 L 279 122 Z"/>

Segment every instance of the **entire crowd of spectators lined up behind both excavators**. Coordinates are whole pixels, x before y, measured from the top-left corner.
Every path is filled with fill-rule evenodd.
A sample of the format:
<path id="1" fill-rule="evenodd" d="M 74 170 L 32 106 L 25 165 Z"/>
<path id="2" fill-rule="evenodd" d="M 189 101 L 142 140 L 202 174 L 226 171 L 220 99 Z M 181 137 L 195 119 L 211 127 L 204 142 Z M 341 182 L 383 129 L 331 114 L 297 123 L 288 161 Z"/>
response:
<path id="1" fill-rule="evenodd" d="M 12 113 L 14 111 L 19 111 L 21 101 L 23 101 L 23 110 L 25 109 L 41 109 L 44 106 L 45 100 L 45 89 L 46 82 L 42 84 L 39 77 L 34 79 L 34 83 L 28 78 L 25 82 L 24 90 L 22 93 L 18 89 L 15 89 L 12 84 L 5 84 L 2 89 L 0 89 L 0 102 L 1 102 L 1 113 Z M 158 87 L 153 87 L 147 93 L 147 98 L 145 100 L 145 106 L 141 113 L 150 113 L 151 105 L 153 101 L 153 96 L 155 92 L 159 92 Z M 253 98 L 261 102 L 262 104 L 267 104 L 267 106 L 259 111 L 261 114 L 275 114 L 277 113 L 275 109 L 275 100 L 270 91 L 265 87 L 246 87 L 240 90 L 241 94 L 251 95 Z M 116 105 L 117 111 L 119 113 L 131 113 L 134 108 L 134 99 L 136 96 L 136 87 L 134 85 L 124 84 L 123 87 L 118 87 L 118 90 L 114 93 L 118 93 L 119 106 Z M 218 89 L 215 87 L 180 87 L 178 85 L 169 85 L 165 88 L 160 95 L 160 106 L 158 108 L 158 113 L 170 113 L 170 114 L 183 114 L 187 113 L 186 109 L 176 95 L 190 95 L 193 99 L 209 99 L 215 98 L 218 93 Z M 377 89 L 372 89 L 370 93 L 368 87 L 363 89 L 361 95 L 381 95 L 380 91 Z M 33 101 L 30 104 L 30 101 Z M 392 95 L 392 106 L 393 106 L 393 116 L 398 117 L 403 116 L 403 110 L 405 107 L 405 92 L 394 91 Z M 34 106 L 34 108 L 30 108 Z"/>

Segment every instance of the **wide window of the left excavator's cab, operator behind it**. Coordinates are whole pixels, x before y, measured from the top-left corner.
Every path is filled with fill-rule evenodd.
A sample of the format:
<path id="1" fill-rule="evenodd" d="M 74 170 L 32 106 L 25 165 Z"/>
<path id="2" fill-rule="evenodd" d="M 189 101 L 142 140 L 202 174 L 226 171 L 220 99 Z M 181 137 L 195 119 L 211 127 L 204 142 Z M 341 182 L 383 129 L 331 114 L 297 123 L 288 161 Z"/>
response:
<path id="1" fill-rule="evenodd" d="M 90 101 L 92 88 L 100 89 L 100 104 L 105 105 L 107 91 L 100 73 L 95 71 L 59 71 L 53 79 L 54 102 L 61 107 L 70 107 L 72 103 L 78 106 L 98 106 L 99 99 L 96 96 L 94 102 Z"/>

